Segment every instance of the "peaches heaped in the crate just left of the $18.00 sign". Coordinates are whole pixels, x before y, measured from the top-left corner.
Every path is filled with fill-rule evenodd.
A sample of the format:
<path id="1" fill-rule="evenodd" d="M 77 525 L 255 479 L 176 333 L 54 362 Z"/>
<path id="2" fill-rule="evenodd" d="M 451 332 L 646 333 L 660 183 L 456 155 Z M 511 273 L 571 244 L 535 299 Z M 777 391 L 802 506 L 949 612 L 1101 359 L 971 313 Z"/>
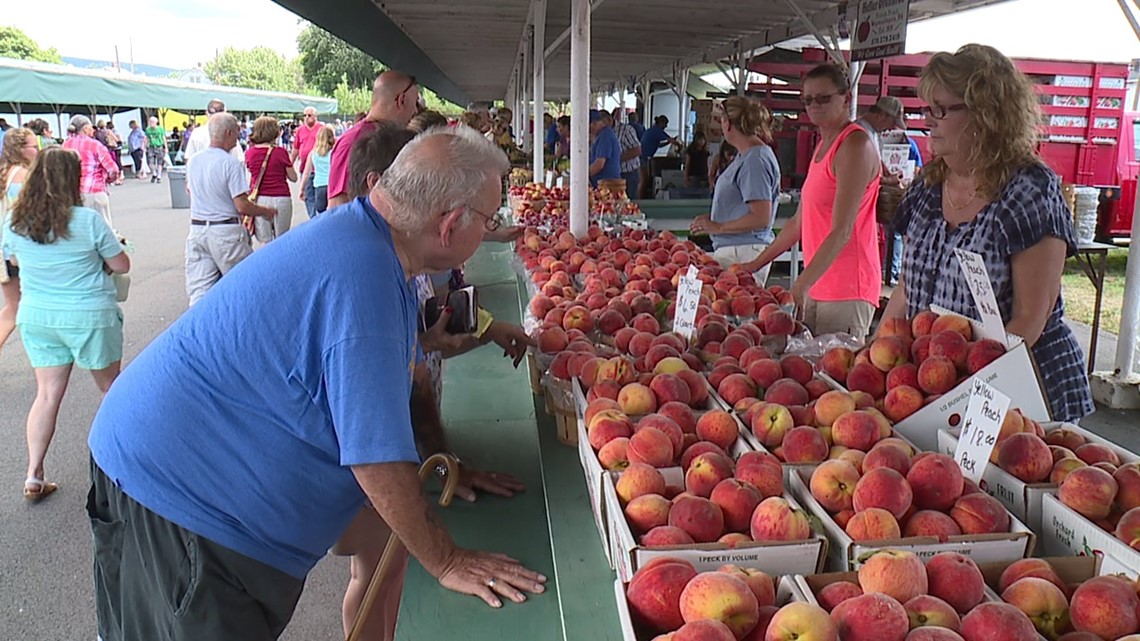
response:
<path id="1" fill-rule="evenodd" d="M 945 454 L 914 454 L 899 439 L 885 439 L 865 456 L 855 451 L 821 463 L 809 489 L 853 541 L 901 536 L 1007 533 L 1010 516 L 994 497 L 962 477 Z"/>

